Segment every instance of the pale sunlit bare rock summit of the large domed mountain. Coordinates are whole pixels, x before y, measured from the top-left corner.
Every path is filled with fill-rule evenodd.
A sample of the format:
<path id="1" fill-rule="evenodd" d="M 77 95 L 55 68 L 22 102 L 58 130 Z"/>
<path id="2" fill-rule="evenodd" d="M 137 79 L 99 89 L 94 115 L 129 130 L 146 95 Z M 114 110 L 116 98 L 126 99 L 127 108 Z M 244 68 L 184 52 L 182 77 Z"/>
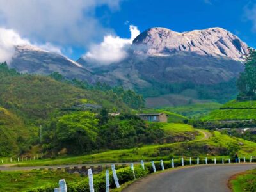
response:
<path id="1" fill-rule="evenodd" d="M 134 39 L 135 54 L 166 56 L 188 51 L 207 56 L 227 56 L 244 60 L 248 46 L 236 35 L 222 28 L 175 32 L 167 28 L 150 28 Z"/>

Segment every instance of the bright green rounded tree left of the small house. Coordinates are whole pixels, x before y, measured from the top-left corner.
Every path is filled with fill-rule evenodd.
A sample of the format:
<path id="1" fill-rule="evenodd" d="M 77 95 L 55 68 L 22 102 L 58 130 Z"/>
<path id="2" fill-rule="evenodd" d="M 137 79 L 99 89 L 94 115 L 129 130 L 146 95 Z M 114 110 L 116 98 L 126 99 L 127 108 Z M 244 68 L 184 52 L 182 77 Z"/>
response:
<path id="1" fill-rule="evenodd" d="M 88 111 L 64 115 L 58 120 L 55 133 L 57 149 L 67 148 L 70 154 L 91 151 L 98 136 L 98 119 Z"/>

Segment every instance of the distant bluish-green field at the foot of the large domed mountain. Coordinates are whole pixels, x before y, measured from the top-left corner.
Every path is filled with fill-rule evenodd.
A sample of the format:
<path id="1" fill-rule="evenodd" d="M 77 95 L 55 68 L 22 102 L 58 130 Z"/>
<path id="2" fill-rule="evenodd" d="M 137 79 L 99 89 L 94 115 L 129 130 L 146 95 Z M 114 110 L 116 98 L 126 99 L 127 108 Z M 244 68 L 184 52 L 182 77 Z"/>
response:
<path id="1" fill-rule="evenodd" d="M 162 108 L 164 111 L 171 111 L 187 118 L 199 118 L 209 114 L 221 107 L 221 104 L 216 102 L 190 104 L 186 106 L 166 107 Z"/>

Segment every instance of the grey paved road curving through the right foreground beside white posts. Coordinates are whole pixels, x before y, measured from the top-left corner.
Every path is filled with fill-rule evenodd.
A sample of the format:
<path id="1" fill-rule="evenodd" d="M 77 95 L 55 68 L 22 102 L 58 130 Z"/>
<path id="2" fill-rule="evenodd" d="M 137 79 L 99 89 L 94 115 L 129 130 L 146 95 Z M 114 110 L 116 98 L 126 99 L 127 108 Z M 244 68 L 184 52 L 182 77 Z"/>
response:
<path id="1" fill-rule="evenodd" d="M 229 177 L 256 168 L 256 164 L 202 165 L 149 175 L 124 192 L 227 192 Z"/>

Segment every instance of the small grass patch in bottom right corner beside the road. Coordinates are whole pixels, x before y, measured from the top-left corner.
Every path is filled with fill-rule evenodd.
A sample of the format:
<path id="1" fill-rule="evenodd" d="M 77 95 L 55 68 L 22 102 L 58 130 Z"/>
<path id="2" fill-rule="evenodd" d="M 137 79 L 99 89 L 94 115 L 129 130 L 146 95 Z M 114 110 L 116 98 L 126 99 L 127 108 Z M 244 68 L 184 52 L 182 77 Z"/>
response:
<path id="1" fill-rule="evenodd" d="M 240 191 L 248 191 L 255 192 L 256 191 L 256 169 L 248 170 L 244 173 L 236 175 L 229 182 L 232 191 L 240 192 Z"/>

